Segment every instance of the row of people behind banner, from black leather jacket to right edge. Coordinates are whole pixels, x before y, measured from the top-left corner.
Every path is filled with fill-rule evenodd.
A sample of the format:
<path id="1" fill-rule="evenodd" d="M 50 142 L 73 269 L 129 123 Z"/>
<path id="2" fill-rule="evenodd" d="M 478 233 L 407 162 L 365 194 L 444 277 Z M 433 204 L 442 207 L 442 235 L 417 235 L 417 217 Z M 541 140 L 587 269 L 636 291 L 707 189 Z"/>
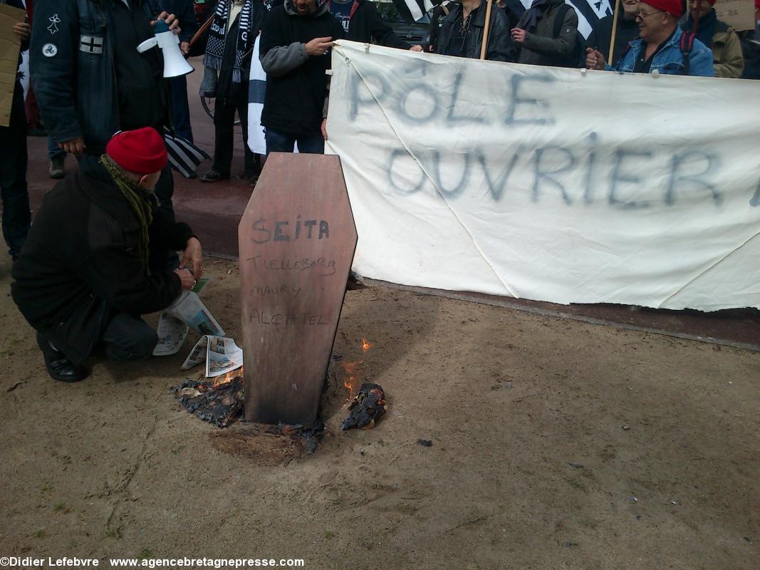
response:
<path id="1" fill-rule="evenodd" d="M 760 2 L 755 29 L 736 32 L 717 19 L 715 0 L 622 0 L 584 40 L 578 15 L 565 0 L 498 0 L 489 24 L 486 59 L 531 65 L 586 67 L 623 73 L 658 73 L 760 79 Z M 445 0 L 433 15 L 427 49 L 479 58 L 486 0 Z M 614 37 L 613 37 L 614 35 Z M 610 54 L 610 47 L 612 53 Z"/>

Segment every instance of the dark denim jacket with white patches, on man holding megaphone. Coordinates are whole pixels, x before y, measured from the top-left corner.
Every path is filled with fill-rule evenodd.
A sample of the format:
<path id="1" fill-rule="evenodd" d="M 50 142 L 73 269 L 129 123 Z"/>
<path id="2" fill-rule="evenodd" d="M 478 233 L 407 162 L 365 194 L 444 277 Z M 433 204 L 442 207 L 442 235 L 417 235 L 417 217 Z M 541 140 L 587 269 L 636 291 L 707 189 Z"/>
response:
<path id="1" fill-rule="evenodd" d="M 116 2 L 121 4 L 121 0 L 34 3 L 30 74 L 45 126 L 56 142 L 84 137 L 87 151 L 97 155 L 103 153 L 116 131 L 125 128 L 119 118 L 114 54 L 124 49 L 137 54 L 137 46 L 113 45 L 109 30 L 116 26 L 112 14 Z M 147 22 L 160 13 L 157 2 L 131 0 L 131 5 L 144 15 L 147 27 L 139 33 L 141 40 L 147 40 L 153 35 Z M 102 40 L 102 52 L 88 51 L 83 37 Z M 47 44 L 55 46 L 52 57 L 43 53 Z M 163 68 L 159 52 L 160 49 L 151 49 L 141 57 L 158 58 Z"/>

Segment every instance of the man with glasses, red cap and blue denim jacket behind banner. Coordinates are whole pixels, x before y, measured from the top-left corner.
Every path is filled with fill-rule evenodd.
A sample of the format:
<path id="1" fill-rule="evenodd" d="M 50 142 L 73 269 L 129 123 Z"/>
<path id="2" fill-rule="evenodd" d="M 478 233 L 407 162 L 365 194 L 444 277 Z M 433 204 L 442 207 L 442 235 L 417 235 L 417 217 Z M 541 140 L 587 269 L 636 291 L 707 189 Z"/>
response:
<path id="1" fill-rule="evenodd" d="M 586 67 L 622 73 L 664 73 L 714 77 L 712 52 L 699 40 L 681 40 L 678 26 L 683 12 L 681 0 L 647 0 L 639 4 L 638 40 L 613 66 L 596 49 L 586 50 Z M 684 40 L 687 38 L 685 37 Z"/>

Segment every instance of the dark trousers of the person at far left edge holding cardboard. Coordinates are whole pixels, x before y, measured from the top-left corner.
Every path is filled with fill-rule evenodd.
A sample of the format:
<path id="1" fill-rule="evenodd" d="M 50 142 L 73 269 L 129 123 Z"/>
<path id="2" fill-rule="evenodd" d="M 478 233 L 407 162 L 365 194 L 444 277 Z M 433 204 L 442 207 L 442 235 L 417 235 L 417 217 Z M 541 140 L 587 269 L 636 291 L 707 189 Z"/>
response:
<path id="1" fill-rule="evenodd" d="M 2 236 L 8 253 L 15 256 L 27 239 L 31 220 L 27 189 L 27 113 L 24 91 L 16 82 L 11 103 L 11 121 L 0 127 L 0 197 Z"/>

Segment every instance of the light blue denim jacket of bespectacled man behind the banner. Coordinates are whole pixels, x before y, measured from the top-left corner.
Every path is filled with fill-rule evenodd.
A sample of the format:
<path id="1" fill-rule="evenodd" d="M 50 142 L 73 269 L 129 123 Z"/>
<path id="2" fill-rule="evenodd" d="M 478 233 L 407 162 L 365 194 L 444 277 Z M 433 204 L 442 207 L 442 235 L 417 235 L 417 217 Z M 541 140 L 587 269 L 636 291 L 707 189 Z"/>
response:
<path id="1" fill-rule="evenodd" d="M 682 75 L 683 74 L 683 55 L 681 53 L 681 35 L 682 30 L 676 29 L 676 33 L 670 38 L 667 44 L 657 52 L 652 60 L 652 66 L 650 69 L 654 71 L 657 69 L 660 73 L 669 75 Z M 633 68 L 641 52 L 646 49 L 644 40 L 638 38 L 629 43 L 629 49 L 625 52 L 614 67 L 607 64 L 604 68 L 607 71 L 620 71 L 621 73 L 633 73 Z M 704 43 L 699 40 L 694 40 L 694 46 L 692 46 L 692 52 L 689 55 L 689 75 L 699 76 L 704 78 L 715 77 L 715 71 L 713 68 L 713 56 L 712 51 Z"/>

